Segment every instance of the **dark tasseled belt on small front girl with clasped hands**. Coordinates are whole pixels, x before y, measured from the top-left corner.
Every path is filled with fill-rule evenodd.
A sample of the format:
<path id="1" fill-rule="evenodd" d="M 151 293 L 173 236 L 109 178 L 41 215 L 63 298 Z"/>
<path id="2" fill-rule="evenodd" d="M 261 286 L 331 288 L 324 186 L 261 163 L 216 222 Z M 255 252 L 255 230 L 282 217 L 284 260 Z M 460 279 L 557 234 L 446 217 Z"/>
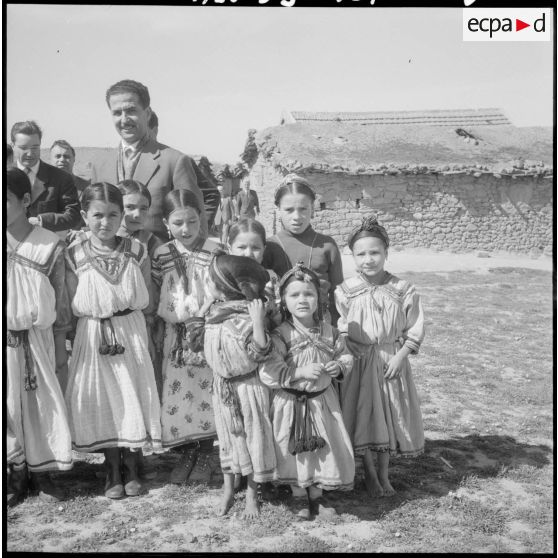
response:
<path id="1" fill-rule="evenodd" d="M 318 434 L 308 400 L 324 393 L 329 386 L 320 391 L 299 391 L 297 389 L 282 388 L 283 391 L 295 396 L 293 422 L 289 436 L 289 453 L 296 455 L 307 451 L 322 449 L 326 441 Z"/>

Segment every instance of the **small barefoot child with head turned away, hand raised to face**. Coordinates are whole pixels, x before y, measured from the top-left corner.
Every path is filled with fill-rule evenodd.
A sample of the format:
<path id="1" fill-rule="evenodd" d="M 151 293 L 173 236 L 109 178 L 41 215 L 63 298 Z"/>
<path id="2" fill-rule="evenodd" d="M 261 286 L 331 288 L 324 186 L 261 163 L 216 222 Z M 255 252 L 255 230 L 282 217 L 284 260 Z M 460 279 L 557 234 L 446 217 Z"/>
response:
<path id="1" fill-rule="evenodd" d="M 235 474 L 248 476 L 244 517 L 259 513 L 257 483 L 273 479 L 275 449 L 269 419 L 268 389 L 258 366 L 271 350 L 264 330 L 266 270 L 251 258 L 218 255 L 209 267 L 213 298 L 205 317 L 187 324 L 194 350 L 205 351 L 213 370 L 213 409 L 224 474 L 219 515 L 233 504 Z"/>

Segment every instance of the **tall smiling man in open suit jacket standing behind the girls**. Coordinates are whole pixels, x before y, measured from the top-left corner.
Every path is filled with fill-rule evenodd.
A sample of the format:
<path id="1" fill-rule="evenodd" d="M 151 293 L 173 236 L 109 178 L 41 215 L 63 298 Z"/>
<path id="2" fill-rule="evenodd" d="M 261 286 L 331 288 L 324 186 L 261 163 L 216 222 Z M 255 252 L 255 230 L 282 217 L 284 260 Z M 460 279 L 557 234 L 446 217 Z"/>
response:
<path id="1" fill-rule="evenodd" d="M 187 155 L 154 140 L 149 132 L 152 114 L 147 87 L 137 81 L 122 80 L 106 92 L 120 145 L 107 153 L 93 168 L 94 182 L 117 184 L 124 179 L 142 182 L 151 193 L 151 207 L 146 228 L 167 239 L 163 224 L 163 200 L 173 188 L 186 188 L 200 202 L 201 235 L 207 238 L 219 207 L 219 192 Z"/>

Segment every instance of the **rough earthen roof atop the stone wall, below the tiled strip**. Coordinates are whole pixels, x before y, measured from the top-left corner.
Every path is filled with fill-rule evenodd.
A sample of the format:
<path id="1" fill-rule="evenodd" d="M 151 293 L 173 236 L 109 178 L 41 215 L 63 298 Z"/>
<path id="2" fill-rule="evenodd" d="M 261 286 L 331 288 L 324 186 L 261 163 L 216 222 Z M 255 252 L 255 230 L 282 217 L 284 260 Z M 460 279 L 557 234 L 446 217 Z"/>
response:
<path id="1" fill-rule="evenodd" d="M 369 125 L 313 122 L 258 132 L 256 145 L 288 172 L 490 172 L 551 176 L 549 127 Z"/>

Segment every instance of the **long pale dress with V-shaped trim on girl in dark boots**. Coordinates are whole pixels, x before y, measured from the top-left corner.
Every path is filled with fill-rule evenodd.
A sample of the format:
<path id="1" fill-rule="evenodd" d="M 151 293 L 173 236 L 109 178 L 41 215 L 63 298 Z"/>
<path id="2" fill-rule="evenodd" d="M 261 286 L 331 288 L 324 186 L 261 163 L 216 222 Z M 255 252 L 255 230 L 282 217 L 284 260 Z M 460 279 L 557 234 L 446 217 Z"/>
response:
<path id="1" fill-rule="evenodd" d="M 99 252 L 88 238 L 68 248 L 72 309 L 78 316 L 66 404 L 74 449 L 161 449 L 161 421 L 142 310 L 149 305 L 145 246 L 117 237 Z M 72 288 L 72 287 L 70 287 Z M 73 290 L 73 288 L 72 288 Z M 124 347 L 103 354 L 103 347 Z"/>

